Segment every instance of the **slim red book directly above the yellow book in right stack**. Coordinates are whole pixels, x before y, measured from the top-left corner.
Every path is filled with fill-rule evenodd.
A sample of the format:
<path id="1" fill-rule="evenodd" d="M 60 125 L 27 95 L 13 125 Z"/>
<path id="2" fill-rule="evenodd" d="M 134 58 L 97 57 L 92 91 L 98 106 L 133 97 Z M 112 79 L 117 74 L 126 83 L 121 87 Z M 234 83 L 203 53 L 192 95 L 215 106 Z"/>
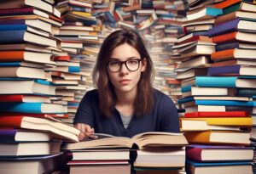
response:
<path id="1" fill-rule="evenodd" d="M 226 111 L 226 112 L 191 112 L 185 113 L 185 118 L 197 117 L 246 117 L 249 116 L 245 111 Z"/>

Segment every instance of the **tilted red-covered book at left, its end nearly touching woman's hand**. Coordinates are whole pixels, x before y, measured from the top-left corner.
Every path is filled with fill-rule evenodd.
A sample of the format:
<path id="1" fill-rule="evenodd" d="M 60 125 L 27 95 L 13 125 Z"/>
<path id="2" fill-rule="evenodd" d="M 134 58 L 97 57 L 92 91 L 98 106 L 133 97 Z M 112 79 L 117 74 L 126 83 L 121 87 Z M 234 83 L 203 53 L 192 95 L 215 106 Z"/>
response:
<path id="1" fill-rule="evenodd" d="M 25 115 L 2 115 L 0 116 L 0 126 L 52 132 L 53 138 L 79 142 L 80 131 L 59 121 Z"/>

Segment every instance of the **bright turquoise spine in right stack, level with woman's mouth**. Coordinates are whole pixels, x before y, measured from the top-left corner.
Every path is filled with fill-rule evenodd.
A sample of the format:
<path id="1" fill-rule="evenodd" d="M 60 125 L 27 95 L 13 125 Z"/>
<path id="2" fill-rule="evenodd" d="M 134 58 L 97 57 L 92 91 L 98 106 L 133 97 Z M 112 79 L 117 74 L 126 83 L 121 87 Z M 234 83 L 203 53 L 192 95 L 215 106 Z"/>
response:
<path id="1" fill-rule="evenodd" d="M 196 76 L 197 87 L 236 87 L 236 76 Z"/>

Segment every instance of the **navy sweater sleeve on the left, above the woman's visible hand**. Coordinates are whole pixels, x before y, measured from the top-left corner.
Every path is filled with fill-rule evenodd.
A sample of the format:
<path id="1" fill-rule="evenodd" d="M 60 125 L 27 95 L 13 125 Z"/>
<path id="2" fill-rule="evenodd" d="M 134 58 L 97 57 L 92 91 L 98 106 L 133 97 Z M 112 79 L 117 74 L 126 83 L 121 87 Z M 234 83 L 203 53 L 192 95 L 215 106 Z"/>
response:
<path id="1" fill-rule="evenodd" d="M 79 109 L 74 117 L 73 124 L 76 123 L 84 123 L 94 126 L 95 113 L 93 111 L 93 104 L 95 103 L 93 100 L 96 98 L 96 93 L 87 92 L 84 95 L 84 98 L 81 100 L 79 104 Z"/>

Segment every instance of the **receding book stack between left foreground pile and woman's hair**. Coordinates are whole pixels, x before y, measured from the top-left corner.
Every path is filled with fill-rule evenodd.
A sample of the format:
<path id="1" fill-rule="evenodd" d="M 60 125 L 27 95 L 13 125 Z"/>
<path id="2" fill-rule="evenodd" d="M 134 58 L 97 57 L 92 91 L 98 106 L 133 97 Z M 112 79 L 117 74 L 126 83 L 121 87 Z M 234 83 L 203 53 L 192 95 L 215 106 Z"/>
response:
<path id="1" fill-rule="evenodd" d="M 86 91 L 93 88 L 92 69 L 96 63 L 99 51 L 100 25 L 96 16 L 92 15 L 92 2 L 79 0 L 56 0 L 55 8 L 61 12 L 63 25 L 55 28 L 54 34 L 61 39 L 61 47 L 67 55 L 60 56 L 56 61 L 54 71 L 56 93 L 67 102 L 70 118 L 66 123 L 73 124 L 73 117 L 79 107 L 79 102 Z M 68 57 L 68 59 L 65 59 Z"/>

